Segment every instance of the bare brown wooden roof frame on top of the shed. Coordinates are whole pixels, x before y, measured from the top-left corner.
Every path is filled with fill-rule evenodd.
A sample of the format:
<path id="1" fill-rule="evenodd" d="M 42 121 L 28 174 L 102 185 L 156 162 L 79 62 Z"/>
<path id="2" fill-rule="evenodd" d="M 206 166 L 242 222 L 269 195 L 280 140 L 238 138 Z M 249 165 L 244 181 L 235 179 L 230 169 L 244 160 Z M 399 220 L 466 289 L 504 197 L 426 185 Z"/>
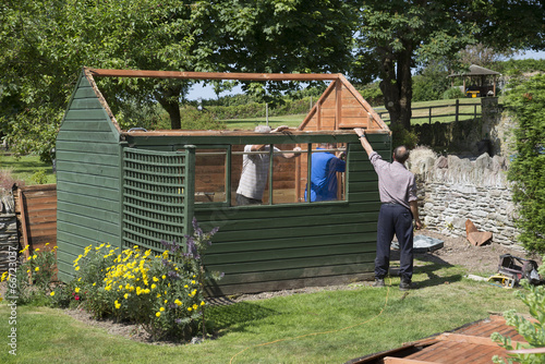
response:
<path id="1" fill-rule="evenodd" d="M 182 130 L 164 130 L 164 131 L 123 131 L 119 126 L 116 117 L 110 110 L 108 102 L 101 95 L 95 82 L 95 77 L 134 77 L 134 78 L 175 78 L 175 80 L 233 80 L 233 81 L 331 81 L 330 85 L 326 88 L 324 94 L 316 101 L 301 125 L 293 131 L 293 134 L 307 134 L 310 131 L 304 129 L 310 124 L 314 118 L 317 122 L 319 134 L 347 134 L 353 133 L 352 129 L 360 126 L 366 129 L 368 133 L 387 133 L 391 134 L 386 123 L 380 119 L 371 105 L 360 95 L 360 93 L 350 84 L 350 82 L 340 73 L 220 73 L 220 72 L 181 72 L 181 71 L 149 71 L 149 70 L 110 70 L 110 69 L 92 69 L 84 68 L 85 77 L 89 81 L 102 107 L 107 110 L 113 125 L 120 134 L 140 136 L 154 134 L 159 135 L 244 135 L 253 134 L 251 131 L 182 131 Z M 344 89 L 350 94 L 350 97 L 356 100 L 361 108 L 367 112 L 367 122 L 358 125 L 348 125 L 342 131 L 342 98 L 340 92 Z M 334 96 L 335 95 L 335 96 Z M 328 98 L 335 98 L 335 129 L 322 130 L 320 129 L 320 109 Z"/>

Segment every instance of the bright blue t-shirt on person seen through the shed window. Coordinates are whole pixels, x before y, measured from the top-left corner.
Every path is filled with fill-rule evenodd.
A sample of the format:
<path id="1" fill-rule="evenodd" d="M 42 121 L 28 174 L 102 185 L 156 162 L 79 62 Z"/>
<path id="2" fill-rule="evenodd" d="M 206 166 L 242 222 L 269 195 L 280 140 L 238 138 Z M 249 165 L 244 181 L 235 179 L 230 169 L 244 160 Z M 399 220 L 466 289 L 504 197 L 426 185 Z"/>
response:
<path id="1" fill-rule="evenodd" d="M 329 151 L 313 153 L 311 202 L 337 199 L 337 172 L 344 172 L 346 168 L 347 162 Z"/>

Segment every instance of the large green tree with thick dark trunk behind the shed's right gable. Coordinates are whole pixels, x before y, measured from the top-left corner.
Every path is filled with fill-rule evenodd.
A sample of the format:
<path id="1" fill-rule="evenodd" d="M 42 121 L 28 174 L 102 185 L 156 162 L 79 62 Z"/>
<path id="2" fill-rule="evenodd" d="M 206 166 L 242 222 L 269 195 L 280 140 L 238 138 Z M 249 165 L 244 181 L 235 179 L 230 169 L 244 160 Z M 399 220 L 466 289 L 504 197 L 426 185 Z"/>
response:
<path id="1" fill-rule="evenodd" d="M 535 0 L 364 0 L 359 14 L 352 74 L 363 82 L 380 78 L 392 128 L 410 129 L 411 72 L 419 63 L 452 66 L 460 49 L 479 41 L 514 49 L 543 45 L 543 5 Z"/>

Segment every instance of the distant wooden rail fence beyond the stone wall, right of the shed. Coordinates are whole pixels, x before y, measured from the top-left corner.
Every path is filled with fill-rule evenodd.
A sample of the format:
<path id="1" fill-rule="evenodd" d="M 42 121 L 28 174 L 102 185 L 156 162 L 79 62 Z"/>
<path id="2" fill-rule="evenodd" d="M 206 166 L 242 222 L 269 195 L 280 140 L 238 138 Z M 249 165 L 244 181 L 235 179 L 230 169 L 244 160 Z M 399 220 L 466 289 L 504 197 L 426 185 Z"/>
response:
<path id="1" fill-rule="evenodd" d="M 452 102 L 452 100 L 446 101 L 446 104 L 441 105 L 411 108 L 411 122 L 413 120 L 427 119 L 427 122 L 431 124 L 433 119 L 441 122 L 450 122 L 462 120 L 461 117 L 471 117 L 475 119 L 481 116 L 480 102 L 460 102 L 460 99 L 456 99 L 455 102 Z M 388 111 L 384 110 L 384 108 L 375 108 L 375 111 L 380 116 L 380 119 L 383 119 L 383 121 L 390 121 L 389 113 Z M 439 118 L 440 120 L 437 120 Z"/>

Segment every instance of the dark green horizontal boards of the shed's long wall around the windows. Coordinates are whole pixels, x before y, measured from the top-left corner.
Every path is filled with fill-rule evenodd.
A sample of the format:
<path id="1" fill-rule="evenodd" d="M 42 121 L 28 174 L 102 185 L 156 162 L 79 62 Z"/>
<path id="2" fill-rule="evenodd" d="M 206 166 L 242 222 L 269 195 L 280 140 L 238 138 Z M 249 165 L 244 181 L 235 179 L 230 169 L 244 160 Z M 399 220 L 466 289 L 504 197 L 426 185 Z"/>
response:
<path id="1" fill-rule="evenodd" d="M 332 136 L 329 136 L 331 138 Z M 323 137 L 322 137 L 323 138 Z M 327 137 L 326 137 L 327 138 Z M 257 144 L 261 135 L 134 137 L 136 148 L 175 150 L 186 143 Z M 389 159 L 390 137 L 370 135 L 376 150 Z M 266 143 L 314 142 L 307 136 L 268 135 Z M 336 136 L 347 143 L 347 201 L 268 206 L 195 205 L 195 217 L 206 231 L 219 227 L 207 250 L 208 269 L 225 272 L 210 294 L 232 294 L 334 284 L 373 277 L 376 223 L 380 207 L 378 179 L 355 134 Z"/>

